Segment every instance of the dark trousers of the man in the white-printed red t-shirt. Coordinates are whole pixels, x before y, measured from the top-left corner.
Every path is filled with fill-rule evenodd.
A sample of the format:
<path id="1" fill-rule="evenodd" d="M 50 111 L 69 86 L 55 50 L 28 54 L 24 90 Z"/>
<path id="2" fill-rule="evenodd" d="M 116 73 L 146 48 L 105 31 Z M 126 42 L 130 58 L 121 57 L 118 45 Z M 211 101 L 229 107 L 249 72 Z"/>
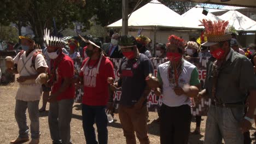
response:
<path id="1" fill-rule="evenodd" d="M 108 143 L 108 119 L 105 110 L 106 106 L 89 106 L 83 104 L 83 129 L 86 143 Z M 94 123 L 96 123 L 98 131 L 98 142 L 96 141 Z"/>

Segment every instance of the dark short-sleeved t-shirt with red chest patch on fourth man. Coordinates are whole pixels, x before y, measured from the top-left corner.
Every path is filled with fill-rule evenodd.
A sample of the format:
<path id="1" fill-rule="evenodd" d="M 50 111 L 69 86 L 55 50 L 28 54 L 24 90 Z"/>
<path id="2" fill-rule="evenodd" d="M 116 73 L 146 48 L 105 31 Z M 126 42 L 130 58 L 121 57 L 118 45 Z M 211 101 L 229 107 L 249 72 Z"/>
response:
<path id="1" fill-rule="evenodd" d="M 146 88 L 146 77 L 153 72 L 152 62 L 142 53 L 136 59 L 123 59 L 119 70 L 122 77 L 120 104 L 132 106 L 137 103 Z"/>

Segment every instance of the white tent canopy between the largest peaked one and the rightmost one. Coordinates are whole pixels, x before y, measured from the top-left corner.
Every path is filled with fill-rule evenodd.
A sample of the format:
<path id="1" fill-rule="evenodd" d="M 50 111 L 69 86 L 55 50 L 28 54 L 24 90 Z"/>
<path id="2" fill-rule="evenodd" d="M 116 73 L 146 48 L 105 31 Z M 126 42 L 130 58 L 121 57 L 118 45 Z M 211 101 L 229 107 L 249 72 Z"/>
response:
<path id="1" fill-rule="evenodd" d="M 207 19 L 211 21 L 218 21 L 220 20 L 217 16 L 213 15 L 212 13 L 208 12 L 207 15 L 202 14 L 203 8 L 199 7 L 194 7 L 191 8 L 189 11 L 184 13 L 182 15 L 182 25 L 185 27 L 190 27 L 190 28 L 204 28 L 201 25 L 200 20 L 202 19 Z"/>

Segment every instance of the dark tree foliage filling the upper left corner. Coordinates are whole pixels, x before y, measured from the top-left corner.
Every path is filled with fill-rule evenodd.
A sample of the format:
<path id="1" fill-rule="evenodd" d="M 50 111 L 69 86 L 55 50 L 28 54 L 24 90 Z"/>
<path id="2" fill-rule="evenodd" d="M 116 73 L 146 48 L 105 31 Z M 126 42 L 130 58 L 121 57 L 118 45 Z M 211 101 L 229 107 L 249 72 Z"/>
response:
<path id="1" fill-rule="evenodd" d="M 91 26 L 90 18 L 91 7 L 88 4 L 83 6 L 84 1 L 68 0 L 4 0 L 0 8 L 0 23 L 9 25 L 10 22 L 21 26 L 31 26 L 36 41 L 43 43 L 44 28 L 50 28 L 53 32 L 54 22 L 56 22 L 56 31 L 60 32 L 66 28 L 74 28 L 73 22 L 81 22 L 85 28 Z"/>

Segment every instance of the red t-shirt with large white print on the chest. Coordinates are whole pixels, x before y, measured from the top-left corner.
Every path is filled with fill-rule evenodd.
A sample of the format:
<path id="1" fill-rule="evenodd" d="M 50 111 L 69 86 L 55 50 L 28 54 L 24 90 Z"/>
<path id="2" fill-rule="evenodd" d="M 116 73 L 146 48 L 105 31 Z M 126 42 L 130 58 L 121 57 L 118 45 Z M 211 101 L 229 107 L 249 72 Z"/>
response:
<path id="1" fill-rule="evenodd" d="M 101 62 L 98 62 L 99 60 L 86 58 L 81 67 L 79 75 L 84 79 L 82 103 L 85 105 L 104 106 L 107 105 L 109 99 L 107 79 L 115 77 L 114 67 L 112 62 L 104 56 L 102 56 Z M 100 64 L 99 67 L 98 64 Z"/>

